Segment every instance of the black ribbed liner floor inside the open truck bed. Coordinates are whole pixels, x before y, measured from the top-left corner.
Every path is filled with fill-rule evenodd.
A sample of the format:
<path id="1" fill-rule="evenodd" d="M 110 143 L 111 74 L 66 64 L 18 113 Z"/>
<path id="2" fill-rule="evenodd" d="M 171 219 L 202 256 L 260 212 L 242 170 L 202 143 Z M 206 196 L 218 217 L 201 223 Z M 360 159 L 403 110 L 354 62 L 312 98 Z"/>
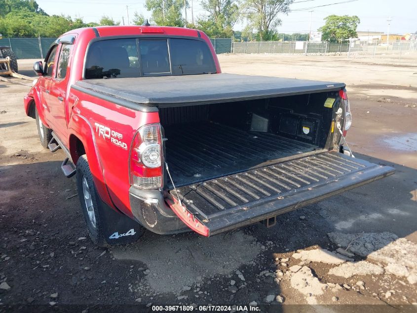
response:
<path id="1" fill-rule="evenodd" d="M 176 186 L 325 151 L 276 134 L 246 132 L 209 122 L 165 127 L 165 136 L 167 162 Z"/>

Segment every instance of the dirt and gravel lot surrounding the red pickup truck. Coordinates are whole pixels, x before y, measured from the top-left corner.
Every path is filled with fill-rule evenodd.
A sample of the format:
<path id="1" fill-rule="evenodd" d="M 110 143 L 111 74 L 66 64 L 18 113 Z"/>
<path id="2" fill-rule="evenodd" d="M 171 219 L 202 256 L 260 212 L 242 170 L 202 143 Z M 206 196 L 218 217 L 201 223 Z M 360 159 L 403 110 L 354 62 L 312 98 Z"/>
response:
<path id="1" fill-rule="evenodd" d="M 64 153 L 43 149 L 35 120 L 25 116 L 29 88 L 0 82 L 0 311 L 252 302 L 269 303 L 262 310 L 283 302 L 284 312 L 294 309 L 285 304 L 394 310 L 417 303 L 416 62 L 276 55 L 220 61 L 228 73 L 345 82 L 350 147 L 396 174 L 281 215 L 272 228 L 254 224 L 208 239 L 147 232 L 135 244 L 98 249 L 85 238 L 75 180 L 61 174 Z M 21 73 L 32 75 L 32 64 L 21 60 Z M 348 257 L 332 253 L 338 248 Z"/>

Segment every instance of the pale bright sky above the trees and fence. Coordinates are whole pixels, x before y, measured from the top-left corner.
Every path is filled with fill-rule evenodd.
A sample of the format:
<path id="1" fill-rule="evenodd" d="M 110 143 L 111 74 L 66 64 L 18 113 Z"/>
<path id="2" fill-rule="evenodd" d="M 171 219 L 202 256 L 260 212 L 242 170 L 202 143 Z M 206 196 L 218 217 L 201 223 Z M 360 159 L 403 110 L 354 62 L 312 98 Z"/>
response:
<path id="1" fill-rule="evenodd" d="M 189 0 L 191 3 L 191 0 Z M 336 2 L 349 1 L 327 5 Z M 150 18 L 151 13 L 145 7 L 145 0 L 37 0 L 39 6 L 52 14 L 65 14 L 71 17 L 82 17 L 85 22 L 98 21 L 103 15 L 113 17 L 127 25 L 127 13 L 130 22 L 135 11 Z M 127 9 L 126 9 L 127 5 Z M 326 6 L 323 6 L 326 5 Z M 320 6 L 320 7 L 317 7 Z M 316 31 L 324 24 L 323 19 L 331 14 L 357 15 L 361 22 L 358 31 L 384 32 L 390 34 L 414 33 L 417 31 L 417 0 L 295 0 L 288 15 L 279 15 L 282 20 L 278 28 L 279 33 L 308 33 Z M 204 14 L 199 0 L 193 0 L 194 18 Z M 309 11 L 313 11 L 310 13 Z M 187 17 L 191 22 L 191 9 L 187 10 Z M 239 22 L 234 30 L 239 31 L 245 22 Z"/>

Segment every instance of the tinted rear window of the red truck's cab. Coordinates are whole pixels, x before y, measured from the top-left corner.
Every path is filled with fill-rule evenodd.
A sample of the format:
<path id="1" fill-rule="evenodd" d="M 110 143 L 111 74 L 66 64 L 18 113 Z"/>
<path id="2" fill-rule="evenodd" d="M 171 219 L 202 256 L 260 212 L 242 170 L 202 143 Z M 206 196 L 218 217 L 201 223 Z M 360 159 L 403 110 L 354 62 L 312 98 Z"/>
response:
<path id="1" fill-rule="evenodd" d="M 91 44 L 85 79 L 216 73 L 208 45 L 192 39 L 112 39 Z"/>

